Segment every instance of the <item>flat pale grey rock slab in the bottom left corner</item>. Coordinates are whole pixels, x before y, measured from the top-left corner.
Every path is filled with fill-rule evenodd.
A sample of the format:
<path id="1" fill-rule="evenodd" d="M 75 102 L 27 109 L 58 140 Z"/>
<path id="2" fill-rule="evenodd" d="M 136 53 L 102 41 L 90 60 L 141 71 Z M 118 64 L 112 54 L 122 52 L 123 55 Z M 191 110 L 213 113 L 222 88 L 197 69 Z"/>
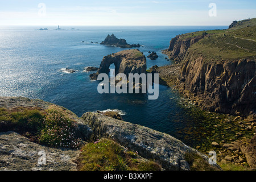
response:
<path id="1" fill-rule="evenodd" d="M 0 154 L 0 170 L 72 171 L 80 151 L 44 147 L 10 131 L 0 133 Z"/>

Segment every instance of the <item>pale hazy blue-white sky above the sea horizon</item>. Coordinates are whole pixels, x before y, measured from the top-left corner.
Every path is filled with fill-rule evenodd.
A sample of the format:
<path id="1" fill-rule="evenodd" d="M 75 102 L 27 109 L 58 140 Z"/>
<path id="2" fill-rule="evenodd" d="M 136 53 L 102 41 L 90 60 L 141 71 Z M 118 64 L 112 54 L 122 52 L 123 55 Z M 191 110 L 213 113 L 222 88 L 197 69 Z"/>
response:
<path id="1" fill-rule="evenodd" d="M 255 17 L 255 0 L 0 1 L 0 26 L 227 26 Z"/>

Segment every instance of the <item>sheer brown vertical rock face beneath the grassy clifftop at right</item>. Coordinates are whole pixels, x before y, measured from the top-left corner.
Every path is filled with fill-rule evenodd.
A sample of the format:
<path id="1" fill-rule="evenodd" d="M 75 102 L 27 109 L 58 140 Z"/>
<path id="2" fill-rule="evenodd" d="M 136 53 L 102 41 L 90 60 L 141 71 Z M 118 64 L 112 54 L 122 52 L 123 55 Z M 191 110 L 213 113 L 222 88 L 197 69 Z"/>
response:
<path id="1" fill-rule="evenodd" d="M 188 56 L 189 57 L 189 56 Z M 202 57 L 187 59 L 181 67 L 180 92 L 196 96 L 209 111 L 249 115 L 256 108 L 255 60 L 205 63 Z"/>

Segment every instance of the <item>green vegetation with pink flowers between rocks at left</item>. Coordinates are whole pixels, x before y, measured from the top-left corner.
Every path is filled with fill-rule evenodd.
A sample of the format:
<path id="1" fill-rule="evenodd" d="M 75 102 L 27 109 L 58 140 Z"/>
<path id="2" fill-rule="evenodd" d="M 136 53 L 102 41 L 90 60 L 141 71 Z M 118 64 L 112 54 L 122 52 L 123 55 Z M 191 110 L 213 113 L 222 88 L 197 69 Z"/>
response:
<path id="1" fill-rule="evenodd" d="M 75 121 L 61 107 L 49 109 L 18 107 L 12 110 L 0 108 L 0 131 L 16 131 L 32 142 L 51 147 L 79 147 L 75 137 Z"/>

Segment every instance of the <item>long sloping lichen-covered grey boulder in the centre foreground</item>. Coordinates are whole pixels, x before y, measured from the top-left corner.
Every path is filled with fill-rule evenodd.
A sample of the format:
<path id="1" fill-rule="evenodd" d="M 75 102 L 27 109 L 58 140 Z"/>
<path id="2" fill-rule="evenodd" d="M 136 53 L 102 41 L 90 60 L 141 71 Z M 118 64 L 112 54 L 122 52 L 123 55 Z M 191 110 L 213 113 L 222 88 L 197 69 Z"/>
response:
<path id="1" fill-rule="evenodd" d="M 186 154 L 196 154 L 207 162 L 207 156 L 168 134 L 98 113 L 85 113 L 82 118 L 92 128 L 94 139 L 113 139 L 131 151 L 138 151 L 143 158 L 156 160 L 166 170 L 189 170 Z M 218 166 L 209 168 L 220 169 Z"/>

